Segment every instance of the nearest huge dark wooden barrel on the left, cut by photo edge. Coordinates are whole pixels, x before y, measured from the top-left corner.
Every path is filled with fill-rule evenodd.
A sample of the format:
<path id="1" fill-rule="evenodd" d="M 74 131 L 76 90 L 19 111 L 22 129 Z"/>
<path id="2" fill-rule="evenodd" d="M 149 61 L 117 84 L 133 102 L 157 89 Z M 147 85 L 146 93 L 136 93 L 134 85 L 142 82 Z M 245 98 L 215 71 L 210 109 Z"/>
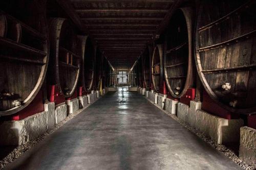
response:
<path id="1" fill-rule="evenodd" d="M 0 115 L 14 114 L 35 98 L 46 75 L 49 41 L 44 4 L 0 2 Z M 21 36 L 22 35 L 22 36 Z"/>

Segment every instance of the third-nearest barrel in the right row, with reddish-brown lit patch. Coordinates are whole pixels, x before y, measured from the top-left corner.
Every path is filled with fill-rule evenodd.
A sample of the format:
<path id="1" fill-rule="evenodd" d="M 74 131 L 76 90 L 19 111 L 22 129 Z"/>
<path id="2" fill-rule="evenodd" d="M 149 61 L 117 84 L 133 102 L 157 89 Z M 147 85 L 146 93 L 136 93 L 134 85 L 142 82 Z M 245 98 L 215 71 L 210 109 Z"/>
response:
<path id="1" fill-rule="evenodd" d="M 152 56 L 152 82 L 156 92 L 160 91 L 163 74 L 163 47 L 156 45 Z"/>

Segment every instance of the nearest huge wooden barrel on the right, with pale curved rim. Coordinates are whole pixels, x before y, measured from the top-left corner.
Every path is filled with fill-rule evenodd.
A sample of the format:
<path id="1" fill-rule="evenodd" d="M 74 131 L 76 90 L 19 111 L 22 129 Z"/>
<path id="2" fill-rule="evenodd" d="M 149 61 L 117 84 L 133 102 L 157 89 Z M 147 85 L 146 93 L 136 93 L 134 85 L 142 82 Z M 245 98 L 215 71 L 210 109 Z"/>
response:
<path id="1" fill-rule="evenodd" d="M 214 18 L 203 25 L 202 25 L 202 22 L 203 22 L 202 17 L 207 14 L 205 13 L 203 14 L 203 9 L 205 9 L 204 4 L 200 4 L 200 8 L 199 8 L 199 15 L 197 19 L 196 43 L 195 43 L 196 45 L 195 60 L 196 60 L 197 71 L 198 71 L 200 80 L 206 92 L 210 95 L 210 97 L 217 104 L 219 104 L 221 107 L 223 107 L 224 109 L 230 112 L 248 113 L 248 112 L 255 112 L 256 110 L 256 107 L 255 107 L 256 101 L 255 101 L 255 95 L 254 95 L 255 94 L 254 89 L 255 89 L 255 83 L 256 83 L 255 81 L 256 80 L 256 71 L 255 71 L 256 60 L 255 60 L 255 57 L 253 58 L 253 56 L 249 56 L 251 55 L 251 51 L 253 51 L 253 47 L 255 49 L 255 45 L 253 45 L 253 37 L 255 37 L 256 31 L 253 30 L 253 26 L 251 30 L 247 30 L 248 28 L 243 27 L 243 25 L 245 26 L 250 25 L 250 23 L 245 22 L 243 23 L 243 25 L 241 25 L 241 22 L 238 22 L 237 25 L 240 31 L 236 32 L 237 30 L 236 28 L 234 28 L 234 30 L 232 30 L 233 34 L 230 37 L 230 35 L 228 34 L 229 32 L 227 32 L 227 34 L 223 34 L 222 33 L 223 30 L 218 29 L 218 27 L 221 27 L 222 23 L 226 21 L 230 21 L 230 19 L 234 19 L 240 15 L 244 15 L 240 18 L 251 18 L 251 20 L 253 20 L 253 17 L 246 16 L 246 14 L 250 14 L 250 13 L 253 14 L 253 10 L 254 10 L 252 9 L 253 6 L 255 6 L 255 1 L 254 2 L 248 1 L 244 5 L 241 5 L 240 7 L 237 7 L 232 11 L 228 11 L 227 13 L 218 17 L 217 19 Z M 212 6 L 212 10 L 216 9 L 216 7 L 217 6 Z M 217 8 L 219 8 L 219 6 Z M 208 13 L 210 13 L 210 11 Z M 229 28 L 226 30 L 229 31 Z M 216 38 L 210 39 L 211 36 L 209 35 L 208 41 L 203 42 L 202 41 L 204 38 L 203 33 L 205 31 L 207 32 L 215 31 L 214 34 Z M 224 35 L 224 37 L 220 35 Z M 249 50 L 247 50 L 246 48 L 248 46 L 249 46 Z M 240 47 L 241 48 L 243 47 L 246 50 L 239 50 Z M 215 51 L 215 50 L 219 50 L 219 51 Z M 215 66 L 216 63 L 212 64 L 213 66 L 206 64 L 207 62 L 212 62 L 211 60 L 208 61 L 204 59 L 205 58 L 204 55 L 208 55 L 209 52 L 211 52 L 212 54 L 218 54 L 218 58 L 214 56 L 217 59 L 217 61 L 219 61 L 217 63 L 218 64 L 217 68 Z M 204 56 L 204 58 L 202 56 Z M 241 56 L 243 59 L 245 60 L 247 59 L 247 61 L 245 62 L 244 60 L 241 60 L 242 59 Z M 223 60 L 224 57 L 225 57 L 225 60 Z M 226 60 L 230 60 L 229 63 Z M 224 74 L 226 74 L 225 80 L 224 80 L 224 76 L 222 77 L 222 75 Z M 222 86 L 225 83 L 231 83 L 230 87 L 228 86 L 226 87 L 227 90 L 222 89 L 222 88 L 225 88 L 225 86 Z M 245 89 L 241 88 L 240 91 L 236 90 L 239 83 L 241 84 L 244 83 Z M 248 89 L 250 90 L 248 91 Z M 242 108 L 240 105 L 240 107 L 233 108 L 229 106 L 230 104 L 232 105 L 231 103 L 232 100 L 239 98 L 240 93 L 242 93 L 242 95 L 244 93 L 244 95 L 250 96 L 249 99 L 245 98 L 245 101 L 246 101 L 245 103 L 251 102 L 251 107 L 248 106 L 248 107 Z M 228 104 L 228 100 L 230 101 L 229 104 Z M 237 101 L 237 102 L 240 103 L 240 101 Z"/>

